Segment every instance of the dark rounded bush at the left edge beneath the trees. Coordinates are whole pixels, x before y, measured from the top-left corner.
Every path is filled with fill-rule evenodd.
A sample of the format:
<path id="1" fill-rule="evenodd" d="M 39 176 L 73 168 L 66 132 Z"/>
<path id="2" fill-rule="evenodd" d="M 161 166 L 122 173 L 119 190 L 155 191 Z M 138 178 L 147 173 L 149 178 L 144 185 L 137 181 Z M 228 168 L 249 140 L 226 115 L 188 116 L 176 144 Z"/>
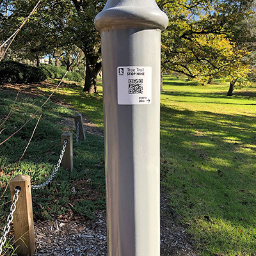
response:
<path id="1" fill-rule="evenodd" d="M 33 83 L 44 81 L 49 72 L 41 67 L 32 67 L 17 61 L 0 62 L 1 83 Z"/>

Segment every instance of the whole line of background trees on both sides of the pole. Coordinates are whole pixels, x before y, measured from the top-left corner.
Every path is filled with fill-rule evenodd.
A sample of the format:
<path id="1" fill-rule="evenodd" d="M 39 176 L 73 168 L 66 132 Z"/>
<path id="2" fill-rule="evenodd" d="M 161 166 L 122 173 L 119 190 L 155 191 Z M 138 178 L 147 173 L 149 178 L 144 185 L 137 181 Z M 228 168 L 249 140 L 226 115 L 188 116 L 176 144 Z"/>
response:
<path id="1" fill-rule="evenodd" d="M 84 92 L 96 92 L 101 69 L 100 34 L 93 21 L 104 7 L 96 0 L 47 0 L 20 31 L 9 52 L 36 61 L 48 55 L 85 67 Z M 158 0 L 170 19 L 162 39 L 162 72 L 177 72 L 211 83 L 253 77 L 255 2 L 253 0 Z M 36 1 L 0 0 L 0 41 L 12 35 Z M 11 54 L 12 53 L 12 54 Z M 8 58 L 8 56 L 7 56 Z"/>

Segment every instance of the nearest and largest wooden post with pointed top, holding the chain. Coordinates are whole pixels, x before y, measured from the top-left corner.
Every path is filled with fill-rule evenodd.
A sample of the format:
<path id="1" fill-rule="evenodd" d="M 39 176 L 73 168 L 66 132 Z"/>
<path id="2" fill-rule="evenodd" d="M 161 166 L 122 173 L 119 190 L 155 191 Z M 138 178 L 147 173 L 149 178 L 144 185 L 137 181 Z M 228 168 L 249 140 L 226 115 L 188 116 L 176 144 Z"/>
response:
<path id="1" fill-rule="evenodd" d="M 33 255 L 35 252 L 35 230 L 31 198 L 30 177 L 18 175 L 10 182 L 12 200 L 15 188 L 20 187 L 19 200 L 13 214 L 15 251 L 19 256 Z"/>

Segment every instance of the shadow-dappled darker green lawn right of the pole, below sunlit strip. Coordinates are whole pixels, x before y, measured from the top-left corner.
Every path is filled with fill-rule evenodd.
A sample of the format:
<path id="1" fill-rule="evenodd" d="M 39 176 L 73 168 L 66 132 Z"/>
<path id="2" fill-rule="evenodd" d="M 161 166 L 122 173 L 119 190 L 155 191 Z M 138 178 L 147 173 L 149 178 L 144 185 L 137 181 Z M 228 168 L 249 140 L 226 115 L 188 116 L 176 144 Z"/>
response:
<path id="1" fill-rule="evenodd" d="M 239 248 L 252 252 L 256 248 L 252 238 L 256 227 L 255 116 L 162 106 L 161 153 L 162 184 L 193 236 L 212 253 L 239 252 Z"/>

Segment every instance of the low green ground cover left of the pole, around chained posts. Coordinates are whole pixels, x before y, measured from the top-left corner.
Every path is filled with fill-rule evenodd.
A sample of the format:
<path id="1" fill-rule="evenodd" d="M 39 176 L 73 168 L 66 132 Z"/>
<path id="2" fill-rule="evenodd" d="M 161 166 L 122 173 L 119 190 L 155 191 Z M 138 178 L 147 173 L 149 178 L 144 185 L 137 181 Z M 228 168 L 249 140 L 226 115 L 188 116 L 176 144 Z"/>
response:
<path id="1" fill-rule="evenodd" d="M 15 95 L 14 92 L 0 91 L 2 118 L 8 114 Z M 24 124 L 45 99 L 45 97 L 20 95 L 15 104 L 19 106 L 19 109 L 4 125 L 1 141 Z M 61 133 L 67 129 L 60 125 L 60 121 L 65 117 L 74 116 L 74 111 L 50 101 L 40 113 L 42 113 L 42 119 L 18 168 L 16 164 L 29 141 L 37 118 L 31 120 L 22 131 L 0 147 L 1 195 L 10 178 L 15 175 L 20 173 L 29 175 L 32 184 L 40 184 L 47 180 L 54 170 L 60 157 Z M 51 185 L 33 191 L 33 211 L 36 220 L 56 218 L 67 213 L 68 216 L 80 214 L 93 218 L 93 213 L 97 209 L 105 208 L 104 148 L 102 145 L 104 145 L 104 139 L 92 134 L 87 134 L 86 141 L 78 144 L 74 142 L 74 171 L 70 173 L 60 168 Z M 9 194 L 8 189 L 4 198 L 1 199 L 1 204 L 10 200 Z M 1 220 L 6 220 L 9 207 L 9 204 L 1 207 Z"/>

